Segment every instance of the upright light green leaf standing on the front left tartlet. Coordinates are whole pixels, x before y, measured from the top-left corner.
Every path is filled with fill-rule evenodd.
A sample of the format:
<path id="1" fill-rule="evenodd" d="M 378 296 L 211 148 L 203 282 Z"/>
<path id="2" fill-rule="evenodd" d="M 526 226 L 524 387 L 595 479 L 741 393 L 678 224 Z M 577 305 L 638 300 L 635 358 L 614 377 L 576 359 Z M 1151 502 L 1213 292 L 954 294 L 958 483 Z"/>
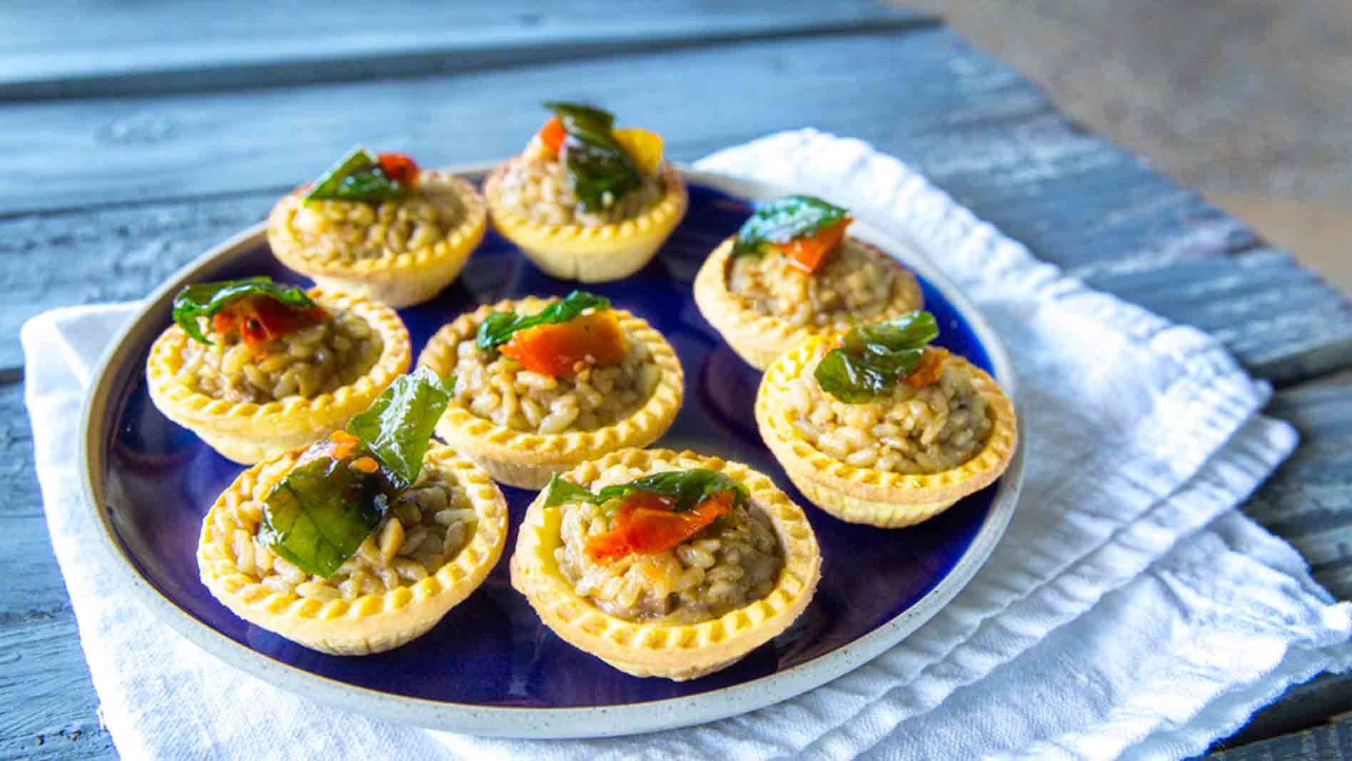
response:
<path id="1" fill-rule="evenodd" d="M 400 491 L 418 480 L 427 441 L 450 393 L 426 365 L 400 376 L 366 408 L 347 422 L 347 433 L 360 438 Z"/>

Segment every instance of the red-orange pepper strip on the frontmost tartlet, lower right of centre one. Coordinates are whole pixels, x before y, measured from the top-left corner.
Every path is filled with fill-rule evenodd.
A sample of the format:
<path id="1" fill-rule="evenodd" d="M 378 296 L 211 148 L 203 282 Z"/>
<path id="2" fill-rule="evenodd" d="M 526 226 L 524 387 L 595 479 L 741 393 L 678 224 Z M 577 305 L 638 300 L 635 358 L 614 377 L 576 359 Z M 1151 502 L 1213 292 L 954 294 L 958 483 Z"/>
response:
<path id="1" fill-rule="evenodd" d="M 610 531 L 587 539 L 587 556 L 611 562 L 629 554 L 667 551 L 731 512 L 733 492 L 710 495 L 684 512 L 672 512 L 675 503 L 675 497 L 633 492 L 621 503 Z"/>

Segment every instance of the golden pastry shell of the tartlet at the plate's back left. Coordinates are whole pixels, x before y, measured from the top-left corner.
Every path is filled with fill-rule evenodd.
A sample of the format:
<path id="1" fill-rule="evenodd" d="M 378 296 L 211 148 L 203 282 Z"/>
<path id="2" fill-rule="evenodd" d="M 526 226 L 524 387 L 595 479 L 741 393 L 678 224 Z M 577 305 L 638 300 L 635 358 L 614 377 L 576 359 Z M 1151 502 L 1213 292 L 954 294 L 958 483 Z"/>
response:
<path id="1" fill-rule="evenodd" d="M 310 188 L 301 185 L 277 201 L 268 215 L 268 246 L 277 261 L 312 278 L 316 284 L 366 296 L 395 308 L 426 301 L 439 293 L 464 269 L 470 251 L 484 238 L 488 212 L 479 191 L 465 180 L 425 169 L 422 182 L 450 187 L 464 205 L 460 226 L 443 238 L 412 251 L 385 251 L 381 257 L 353 261 L 315 255 L 291 228 L 292 218 Z"/>

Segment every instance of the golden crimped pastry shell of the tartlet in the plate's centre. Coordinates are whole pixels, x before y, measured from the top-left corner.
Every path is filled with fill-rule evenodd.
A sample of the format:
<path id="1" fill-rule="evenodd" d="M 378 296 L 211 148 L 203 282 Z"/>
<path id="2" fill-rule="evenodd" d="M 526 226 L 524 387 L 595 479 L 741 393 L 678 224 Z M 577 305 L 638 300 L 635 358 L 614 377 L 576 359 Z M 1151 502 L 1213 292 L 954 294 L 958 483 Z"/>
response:
<path id="1" fill-rule="evenodd" d="M 508 299 L 461 315 L 431 337 L 418 357 L 418 364 L 427 365 L 438 376 L 446 377 L 456 368 L 456 345 L 472 339 L 489 312 L 512 310 L 522 304 L 544 308 L 552 301 L 554 299 Z M 630 341 L 641 341 L 648 346 L 649 357 L 661 370 L 657 387 L 633 415 L 595 431 L 541 435 L 499 426 L 475 415 L 452 399 L 437 423 L 437 435 L 465 453 L 498 481 L 525 489 L 542 489 L 553 474 L 608 451 L 629 446 L 642 447 L 657 441 L 671 427 L 684 399 L 685 385 L 680 360 L 662 334 L 646 320 L 625 310 L 614 312 Z"/>

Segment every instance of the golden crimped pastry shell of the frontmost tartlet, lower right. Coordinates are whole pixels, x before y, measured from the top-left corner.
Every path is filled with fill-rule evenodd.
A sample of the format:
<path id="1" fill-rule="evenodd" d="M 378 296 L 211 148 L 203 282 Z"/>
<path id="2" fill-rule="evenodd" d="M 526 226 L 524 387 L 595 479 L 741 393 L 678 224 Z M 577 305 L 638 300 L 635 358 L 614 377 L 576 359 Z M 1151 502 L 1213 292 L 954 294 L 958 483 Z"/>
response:
<path id="1" fill-rule="evenodd" d="M 752 504 L 764 510 L 784 551 L 784 568 L 764 599 L 700 623 L 644 623 L 612 616 L 579 596 L 558 570 L 558 507 L 544 507 L 544 492 L 526 510 L 511 557 L 512 587 L 526 595 L 549 629 L 573 646 L 634 676 L 676 681 L 695 679 L 731 665 L 784 631 L 807 607 L 821 577 L 821 550 L 803 510 L 763 473 L 740 462 L 694 451 L 626 449 L 565 474 L 588 485 L 612 465 L 650 469 L 656 461 L 679 468 L 708 468 L 737 478 L 750 491 Z"/>

